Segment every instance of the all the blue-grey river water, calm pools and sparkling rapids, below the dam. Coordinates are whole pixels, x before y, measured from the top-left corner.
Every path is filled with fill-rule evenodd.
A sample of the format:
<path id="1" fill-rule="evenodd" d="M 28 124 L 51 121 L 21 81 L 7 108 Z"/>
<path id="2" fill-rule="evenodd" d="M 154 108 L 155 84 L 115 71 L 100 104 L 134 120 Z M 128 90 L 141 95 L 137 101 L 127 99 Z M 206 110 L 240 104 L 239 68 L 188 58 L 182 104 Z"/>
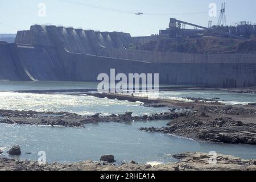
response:
<path id="1" fill-rule="evenodd" d="M 95 88 L 85 82 L 0 82 L 0 109 L 69 111 L 77 114 L 119 114 L 133 111 L 136 115 L 159 113 L 167 108 L 143 107 L 141 102 L 128 102 L 73 96 L 67 94 L 16 93 L 13 90 L 85 89 Z M 1 92 L 7 91 L 7 92 Z M 163 92 L 164 97 L 219 97 L 233 102 L 255 102 L 253 94 L 212 91 Z M 255 101 L 254 101 L 255 100 Z M 47 162 L 80 162 L 99 160 L 101 155 L 113 154 L 118 163 L 135 160 L 139 163 L 174 161 L 171 154 L 180 152 L 209 152 L 256 159 L 256 146 L 196 142 L 167 134 L 147 133 L 140 127 L 163 127 L 168 121 L 98 123 L 85 128 L 50 127 L 0 124 L 0 156 L 14 144 L 22 147 L 20 159 L 37 160 L 38 152 L 45 151 Z M 26 154 L 25 152 L 31 152 Z M 9 156 L 10 157 L 10 156 Z"/>

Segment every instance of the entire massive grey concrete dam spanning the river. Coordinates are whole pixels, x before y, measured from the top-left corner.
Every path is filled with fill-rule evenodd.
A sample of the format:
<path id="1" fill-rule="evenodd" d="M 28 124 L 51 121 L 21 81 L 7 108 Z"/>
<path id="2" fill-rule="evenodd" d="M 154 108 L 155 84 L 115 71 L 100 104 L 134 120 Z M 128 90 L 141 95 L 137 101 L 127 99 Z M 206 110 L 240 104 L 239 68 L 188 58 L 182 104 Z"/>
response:
<path id="1" fill-rule="evenodd" d="M 18 31 L 0 42 L 0 80 L 97 81 L 100 73 L 159 73 L 161 84 L 256 86 L 256 54 L 194 54 L 129 49 L 138 39 L 123 32 L 56 26 Z"/>

